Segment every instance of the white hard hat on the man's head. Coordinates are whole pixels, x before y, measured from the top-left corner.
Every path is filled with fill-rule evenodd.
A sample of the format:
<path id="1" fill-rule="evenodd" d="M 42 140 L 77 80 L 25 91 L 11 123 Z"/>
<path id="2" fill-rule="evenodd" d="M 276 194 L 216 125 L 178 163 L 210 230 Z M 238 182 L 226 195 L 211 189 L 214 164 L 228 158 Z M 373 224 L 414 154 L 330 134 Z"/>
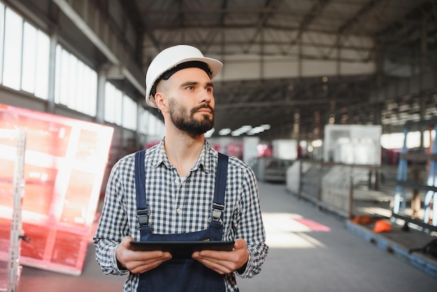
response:
<path id="1" fill-rule="evenodd" d="M 174 47 L 167 48 L 161 51 L 155 59 L 150 63 L 146 73 L 146 103 L 152 108 L 157 108 L 154 101 L 154 96 L 151 95 L 151 89 L 154 87 L 156 80 L 160 79 L 164 73 L 175 68 L 179 64 L 183 64 L 190 61 L 200 61 L 207 64 L 209 71 L 209 77 L 214 79 L 218 72 L 221 71 L 223 64 L 216 59 L 204 57 L 202 52 L 191 45 L 175 45 Z M 182 68 L 188 68 L 191 66 L 184 66 Z M 197 66 L 193 66 L 197 67 Z M 182 69 L 180 68 L 180 69 Z M 180 70 L 177 69 L 177 70 Z M 205 68 L 204 68 L 205 70 Z M 173 72 L 174 73 L 174 72 Z"/>

